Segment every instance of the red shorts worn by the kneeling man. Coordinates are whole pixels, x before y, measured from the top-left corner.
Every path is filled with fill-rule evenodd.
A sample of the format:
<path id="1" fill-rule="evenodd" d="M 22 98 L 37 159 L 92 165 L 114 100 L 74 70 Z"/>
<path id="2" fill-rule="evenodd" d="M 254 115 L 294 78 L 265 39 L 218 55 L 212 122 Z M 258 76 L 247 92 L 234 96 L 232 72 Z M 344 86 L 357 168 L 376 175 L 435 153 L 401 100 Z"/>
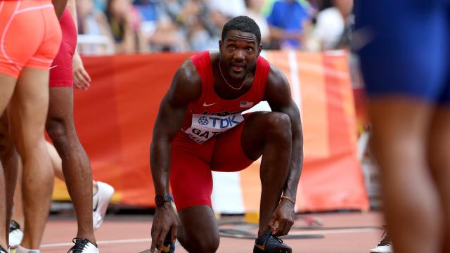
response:
<path id="1" fill-rule="evenodd" d="M 245 121 L 203 144 L 180 133 L 172 142 L 170 186 L 176 209 L 211 206 L 212 171 L 240 171 L 254 162 L 245 156 L 240 139 Z"/>

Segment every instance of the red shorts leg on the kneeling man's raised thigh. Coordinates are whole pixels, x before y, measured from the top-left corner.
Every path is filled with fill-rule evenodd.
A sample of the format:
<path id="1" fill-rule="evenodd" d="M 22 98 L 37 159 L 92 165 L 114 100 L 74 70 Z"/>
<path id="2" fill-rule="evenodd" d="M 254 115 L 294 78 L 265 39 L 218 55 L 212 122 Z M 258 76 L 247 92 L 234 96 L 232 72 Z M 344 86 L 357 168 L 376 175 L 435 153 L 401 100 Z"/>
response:
<path id="1" fill-rule="evenodd" d="M 217 141 L 211 159 L 213 171 L 240 171 L 257 160 L 259 156 L 252 160 L 243 150 L 243 139 L 245 140 L 243 131 L 247 127 L 248 119 L 245 117 L 244 122 L 216 137 Z"/>

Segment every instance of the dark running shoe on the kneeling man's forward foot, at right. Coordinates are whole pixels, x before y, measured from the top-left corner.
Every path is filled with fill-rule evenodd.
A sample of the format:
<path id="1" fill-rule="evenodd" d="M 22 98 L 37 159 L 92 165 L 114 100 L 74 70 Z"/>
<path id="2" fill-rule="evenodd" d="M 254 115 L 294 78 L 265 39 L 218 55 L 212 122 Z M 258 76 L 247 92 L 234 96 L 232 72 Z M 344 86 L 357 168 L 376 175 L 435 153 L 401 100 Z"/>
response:
<path id="1" fill-rule="evenodd" d="M 255 247 L 253 247 L 253 253 L 292 253 L 287 244 L 280 238 L 271 234 L 271 231 L 266 231 L 255 240 Z"/>

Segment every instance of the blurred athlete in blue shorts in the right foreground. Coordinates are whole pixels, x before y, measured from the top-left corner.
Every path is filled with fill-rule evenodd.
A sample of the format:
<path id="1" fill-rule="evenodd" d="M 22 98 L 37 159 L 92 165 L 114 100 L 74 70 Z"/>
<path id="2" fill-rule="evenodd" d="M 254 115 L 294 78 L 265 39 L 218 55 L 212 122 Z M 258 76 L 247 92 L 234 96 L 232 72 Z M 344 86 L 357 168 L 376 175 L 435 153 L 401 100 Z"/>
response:
<path id="1" fill-rule="evenodd" d="M 450 252 L 450 2 L 360 0 L 355 15 L 394 252 Z"/>

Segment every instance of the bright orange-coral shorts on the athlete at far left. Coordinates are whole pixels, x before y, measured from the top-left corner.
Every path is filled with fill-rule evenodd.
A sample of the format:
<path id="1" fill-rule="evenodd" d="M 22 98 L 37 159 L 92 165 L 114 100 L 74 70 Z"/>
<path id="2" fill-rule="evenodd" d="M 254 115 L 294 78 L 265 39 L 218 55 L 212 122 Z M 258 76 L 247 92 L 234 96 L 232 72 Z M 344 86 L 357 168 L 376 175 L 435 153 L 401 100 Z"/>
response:
<path id="1" fill-rule="evenodd" d="M 0 1 L 0 73 L 17 79 L 23 67 L 48 70 L 60 43 L 50 0 Z"/>

